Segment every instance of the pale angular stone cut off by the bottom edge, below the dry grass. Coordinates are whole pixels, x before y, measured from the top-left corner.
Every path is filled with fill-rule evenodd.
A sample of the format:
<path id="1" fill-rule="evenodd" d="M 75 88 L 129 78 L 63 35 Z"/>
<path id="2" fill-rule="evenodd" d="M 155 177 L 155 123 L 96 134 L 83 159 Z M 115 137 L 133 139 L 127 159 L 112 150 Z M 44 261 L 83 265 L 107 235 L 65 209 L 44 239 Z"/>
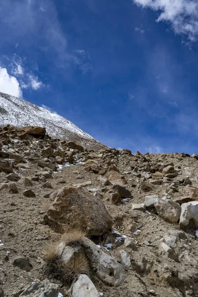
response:
<path id="1" fill-rule="evenodd" d="M 86 274 L 80 274 L 72 288 L 72 297 L 99 297 L 99 293 Z"/>

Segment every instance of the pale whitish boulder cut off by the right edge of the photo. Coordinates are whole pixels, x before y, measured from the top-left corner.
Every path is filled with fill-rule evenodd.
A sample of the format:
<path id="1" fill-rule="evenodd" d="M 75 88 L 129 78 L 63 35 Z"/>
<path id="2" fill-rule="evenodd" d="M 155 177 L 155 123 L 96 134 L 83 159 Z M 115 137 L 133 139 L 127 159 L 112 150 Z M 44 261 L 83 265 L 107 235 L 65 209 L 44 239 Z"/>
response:
<path id="1" fill-rule="evenodd" d="M 190 220 L 193 220 L 196 227 L 198 227 L 198 201 L 191 201 L 182 204 L 182 212 L 180 215 L 180 227 L 189 225 Z"/>

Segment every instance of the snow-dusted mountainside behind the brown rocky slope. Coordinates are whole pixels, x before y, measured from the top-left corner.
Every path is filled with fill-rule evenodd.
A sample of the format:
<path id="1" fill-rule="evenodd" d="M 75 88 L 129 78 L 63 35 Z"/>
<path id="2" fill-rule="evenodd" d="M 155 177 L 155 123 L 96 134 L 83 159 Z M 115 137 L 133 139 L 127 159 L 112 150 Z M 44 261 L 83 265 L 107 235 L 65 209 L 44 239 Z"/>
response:
<path id="1" fill-rule="evenodd" d="M 24 99 L 0 93 L 0 127 L 8 124 L 18 128 L 45 127 L 53 138 L 75 141 L 89 148 L 105 147 L 66 118 Z"/>

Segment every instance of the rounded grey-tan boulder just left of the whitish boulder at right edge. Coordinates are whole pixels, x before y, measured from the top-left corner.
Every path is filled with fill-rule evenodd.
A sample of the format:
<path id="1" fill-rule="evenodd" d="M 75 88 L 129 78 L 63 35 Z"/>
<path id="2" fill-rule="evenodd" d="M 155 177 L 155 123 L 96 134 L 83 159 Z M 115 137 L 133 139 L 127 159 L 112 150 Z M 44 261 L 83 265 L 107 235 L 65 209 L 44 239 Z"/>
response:
<path id="1" fill-rule="evenodd" d="M 171 223 L 178 222 L 181 214 L 181 206 L 178 203 L 171 200 L 156 199 L 154 207 L 163 220 Z"/>

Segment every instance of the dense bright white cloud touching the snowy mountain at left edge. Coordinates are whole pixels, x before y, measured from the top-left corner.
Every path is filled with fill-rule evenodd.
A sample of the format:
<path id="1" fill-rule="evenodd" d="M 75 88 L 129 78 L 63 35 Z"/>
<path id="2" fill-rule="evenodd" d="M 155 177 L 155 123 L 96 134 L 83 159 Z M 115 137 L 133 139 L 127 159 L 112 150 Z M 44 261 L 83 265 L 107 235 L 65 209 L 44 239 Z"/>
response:
<path id="1" fill-rule="evenodd" d="M 7 69 L 0 67 L 0 92 L 22 98 L 19 82 L 7 73 Z"/>

